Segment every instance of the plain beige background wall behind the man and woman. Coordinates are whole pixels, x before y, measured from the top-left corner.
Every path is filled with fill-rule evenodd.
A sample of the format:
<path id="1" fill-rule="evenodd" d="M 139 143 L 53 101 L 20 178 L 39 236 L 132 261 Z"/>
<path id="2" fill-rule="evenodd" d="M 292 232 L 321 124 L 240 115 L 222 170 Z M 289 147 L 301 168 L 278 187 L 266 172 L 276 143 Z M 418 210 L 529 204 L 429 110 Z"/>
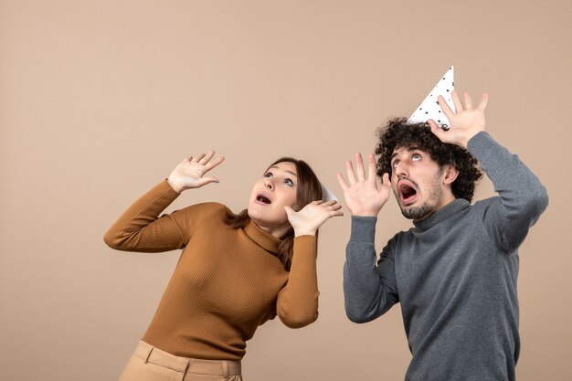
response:
<path id="1" fill-rule="evenodd" d="M 0 379 L 113 380 L 178 253 L 108 249 L 104 231 L 186 154 L 227 157 L 205 200 L 246 206 L 282 154 L 335 173 L 456 67 L 491 94 L 488 131 L 547 186 L 521 249 L 519 379 L 569 380 L 572 3 L 0 1 Z M 488 180 L 478 196 L 491 196 Z M 410 355 L 398 306 L 344 316 L 349 217 L 320 237 L 320 318 L 276 320 L 249 342 L 245 379 L 398 380 Z M 377 247 L 409 227 L 395 201 Z"/>

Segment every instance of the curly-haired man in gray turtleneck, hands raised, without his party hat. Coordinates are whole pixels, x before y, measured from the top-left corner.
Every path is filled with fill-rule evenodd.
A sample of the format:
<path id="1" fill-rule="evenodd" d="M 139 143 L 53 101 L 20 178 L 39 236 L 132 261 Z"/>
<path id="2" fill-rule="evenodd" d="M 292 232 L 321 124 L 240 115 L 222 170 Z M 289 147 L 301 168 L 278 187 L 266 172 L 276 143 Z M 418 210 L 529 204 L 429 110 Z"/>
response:
<path id="1" fill-rule="evenodd" d="M 449 118 L 390 121 L 380 131 L 369 171 L 338 174 L 352 232 L 344 265 L 345 312 L 372 321 L 401 303 L 412 361 L 406 380 L 514 380 L 518 360 L 518 247 L 546 209 L 546 189 L 518 157 L 484 132 L 483 94 L 477 108 L 452 93 Z M 478 160 L 478 162 L 477 162 Z M 499 196 L 471 206 L 478 164 Z M 393 190 L 414 228 L 387 242 L 377 259 L 376 217 Z"/>

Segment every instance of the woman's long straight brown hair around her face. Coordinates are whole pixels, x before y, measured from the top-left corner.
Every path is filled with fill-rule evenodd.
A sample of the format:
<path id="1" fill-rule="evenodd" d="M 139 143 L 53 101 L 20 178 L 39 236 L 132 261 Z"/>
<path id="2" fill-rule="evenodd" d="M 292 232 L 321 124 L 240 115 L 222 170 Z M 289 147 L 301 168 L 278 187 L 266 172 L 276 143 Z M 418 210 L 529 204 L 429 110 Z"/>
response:
<path id="1" fill-rule="evenodd" d="M 312 201 L 321 200 L 323 197 L 322 185 L 318 176 L 314 174 L 310 165 L 303 160 L 294 159 L 292 157 L 281 157 L 267 168 L 279 163 L 291 163 L 296 166 L 298 174 L 298 186 L 296 187 L 296 204 L 292 209 L 299 211 L 302 207 L 310 204 Z M 244 228 L 249 223 L 249 210 L 244 209 L 237 216 L 228 217 L 227 224 L 231 228 Z M 316 236 L 318 233 L 316 232 Z M 278 258 L 284 264 L 286 270 L 290 270 L 292 254 L 294 249 L 294 229 L 290 228 L 286 235 L 281 238 L 279 245 Z"/>

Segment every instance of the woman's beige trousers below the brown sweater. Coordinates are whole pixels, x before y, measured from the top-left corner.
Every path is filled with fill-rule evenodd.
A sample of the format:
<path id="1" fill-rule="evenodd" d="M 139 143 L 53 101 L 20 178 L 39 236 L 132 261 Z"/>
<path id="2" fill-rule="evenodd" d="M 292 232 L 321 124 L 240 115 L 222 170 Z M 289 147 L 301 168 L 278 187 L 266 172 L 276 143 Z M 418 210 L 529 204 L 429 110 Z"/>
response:
<path id="1" fill-rule="evenodd" d="M 197 360 L 139 341 L 119 381 L 242 381 L 239 361 Z"/>

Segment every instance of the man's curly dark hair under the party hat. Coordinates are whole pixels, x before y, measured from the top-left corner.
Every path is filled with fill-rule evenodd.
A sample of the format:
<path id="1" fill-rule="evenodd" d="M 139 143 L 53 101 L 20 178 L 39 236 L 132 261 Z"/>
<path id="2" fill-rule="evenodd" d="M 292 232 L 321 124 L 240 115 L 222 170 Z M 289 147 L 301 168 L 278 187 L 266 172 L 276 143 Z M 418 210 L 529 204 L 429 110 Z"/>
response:
<path id="1" fill-rule="evenodd" d="M 385 127 L 377 130 L 377 135 L 377 175 L 391 176 L 391 155 L 396 148 L 418 146 L 420 150 L 429 153 L 440 167 L 451 164 L 457 168 L 459 175 L 451 185 L 453 196 L 471 202 L 475 184 L 482 177 L 482 170 L 477 159 L 467 150 L 459 145 L 441 142 L 431 132 L 429 123 L 409 124 L 407 118 L 389 120 Z"/>

